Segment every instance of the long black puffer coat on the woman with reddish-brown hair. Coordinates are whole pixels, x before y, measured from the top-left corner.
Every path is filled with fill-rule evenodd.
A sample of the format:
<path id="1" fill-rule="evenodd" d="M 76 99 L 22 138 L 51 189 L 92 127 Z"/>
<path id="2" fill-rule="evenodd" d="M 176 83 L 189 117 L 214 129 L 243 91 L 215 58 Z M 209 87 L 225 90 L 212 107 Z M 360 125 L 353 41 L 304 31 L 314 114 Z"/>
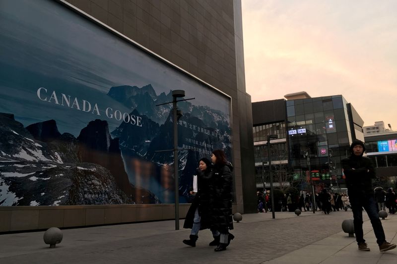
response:
<path id="1" fill-rule="evenodd" d="M 233 199 L 233 166 L 231 163 L 226 165 L 215 164 L 212 170 L 213 177 L 213 197 L 211 229 L 216 229 L 221 233 L 227 233 L 228 229 L 233 229 L 232 218 L 232 199 Z"/>

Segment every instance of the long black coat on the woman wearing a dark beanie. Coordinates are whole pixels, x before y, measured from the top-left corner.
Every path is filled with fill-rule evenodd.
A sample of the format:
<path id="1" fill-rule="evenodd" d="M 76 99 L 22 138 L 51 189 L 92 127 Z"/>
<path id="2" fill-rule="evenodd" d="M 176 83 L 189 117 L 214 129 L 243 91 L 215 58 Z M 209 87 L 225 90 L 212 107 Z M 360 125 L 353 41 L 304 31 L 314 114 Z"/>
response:
<path id="1" fill-rule="evenodd" d="M 196 169 L 197 175 L 197 194 L 193 199 L 192 205 L 186 214 L 184 228 L 192 228 L 196 208 L 199 208 L 200 230 L 210 227 L 212 214 L 212 200 L 214 190 L 214 179 L 211 169 L 201 171 Z"/>

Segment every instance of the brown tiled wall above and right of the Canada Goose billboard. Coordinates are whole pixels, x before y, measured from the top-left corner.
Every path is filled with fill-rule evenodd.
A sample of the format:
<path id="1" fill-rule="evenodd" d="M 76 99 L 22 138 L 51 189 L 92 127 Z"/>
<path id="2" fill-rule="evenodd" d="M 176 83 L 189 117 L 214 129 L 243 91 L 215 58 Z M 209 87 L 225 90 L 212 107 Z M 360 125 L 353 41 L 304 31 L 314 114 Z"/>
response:
<path id="1" fill-rule="evenodd" d="M 254 174 L 246 173 L 241 153 L 252 152 L 244 162 L 254 166 L 254 144 L 246 115 L 251 98 L 245 89 L 241 0 L 66 1 L 231 97 L 235 209 L 243 212 L 242 175 Z M 251 136 L 241 136 L 248 127 Z M 255 197 L 255 184 L 243 187 Z"/>

